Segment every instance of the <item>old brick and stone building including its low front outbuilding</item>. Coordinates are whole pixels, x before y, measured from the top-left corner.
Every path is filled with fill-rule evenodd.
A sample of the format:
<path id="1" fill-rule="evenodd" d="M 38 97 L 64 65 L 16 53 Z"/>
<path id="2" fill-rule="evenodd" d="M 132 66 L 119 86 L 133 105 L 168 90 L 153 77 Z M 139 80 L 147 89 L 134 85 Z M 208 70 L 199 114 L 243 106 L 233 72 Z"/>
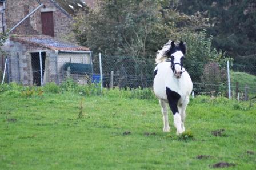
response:
<path id="1" fill-rule="evenodd" d="M 63 40 L 71 32 L 73 17 L 57 2 L 0 0 L 0 10 L 3 16 L 0 30 L 10 31 L 2 47 L 9 56 L 10 81 L 25 85 L 59 84 L 65 79 L 66 66 L 71 64 L 74 70 L 82 69 L 74 74 L 77 81 L 86 83 L 85 75 L 92 72 L 91 51 Z M 2 69 L 3 58 L 5 56 L 0 60 Z"/>

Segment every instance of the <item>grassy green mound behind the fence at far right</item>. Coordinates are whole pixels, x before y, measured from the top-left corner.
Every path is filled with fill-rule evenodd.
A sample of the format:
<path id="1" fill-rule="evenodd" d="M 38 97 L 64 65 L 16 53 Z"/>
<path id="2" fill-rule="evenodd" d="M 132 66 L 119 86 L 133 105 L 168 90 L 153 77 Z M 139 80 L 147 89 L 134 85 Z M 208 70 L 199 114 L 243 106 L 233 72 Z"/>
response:
<path id="1" fill-rule="evenodd" d="M 256 95 L 256 76 L 246 72 L 231 72 L 231 86 L 235 90 L 236 83 L 239 83 L 239 90 L 245 91 L 245 86 L 249 87 L 249 92 Z"/>

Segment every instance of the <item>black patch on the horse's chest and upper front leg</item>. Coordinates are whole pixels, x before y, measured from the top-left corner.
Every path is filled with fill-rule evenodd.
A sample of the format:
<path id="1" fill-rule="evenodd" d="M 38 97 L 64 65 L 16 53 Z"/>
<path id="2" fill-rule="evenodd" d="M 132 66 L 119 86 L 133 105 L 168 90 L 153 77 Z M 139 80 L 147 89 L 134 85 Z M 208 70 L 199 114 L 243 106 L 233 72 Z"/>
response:
<path id="1" fill-rule="evenodd" d="M 177 104 L 179 99 L 181 98 L 181 95 L 179 95 L 175 91 L 170 90 L 170 88 L 168 87 L 166 87 L 166 95 L 171 111 L 173 112 L 173 115 L 175 115 L 176 112 L 179 112 Z"/>

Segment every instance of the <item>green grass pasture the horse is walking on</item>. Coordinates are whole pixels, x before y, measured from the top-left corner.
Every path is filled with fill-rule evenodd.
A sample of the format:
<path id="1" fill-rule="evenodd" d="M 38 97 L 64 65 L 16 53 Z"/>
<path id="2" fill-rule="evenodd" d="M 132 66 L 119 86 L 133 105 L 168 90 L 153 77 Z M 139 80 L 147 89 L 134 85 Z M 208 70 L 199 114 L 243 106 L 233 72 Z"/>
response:
<path id="1" fill-rule="evenodd" d="M 105 91 L 81 100 L 70 92 L 0 94 L 0 169 L 211 169 L 220 161 L 256 167 L 255 103 L 191 100 L 185 124 L 191 139 L 175 135 L 172 116 L 171 132 L 162 132 L 157 99 Z M 225 132 L 213 136 L 218 129 Z"/>

